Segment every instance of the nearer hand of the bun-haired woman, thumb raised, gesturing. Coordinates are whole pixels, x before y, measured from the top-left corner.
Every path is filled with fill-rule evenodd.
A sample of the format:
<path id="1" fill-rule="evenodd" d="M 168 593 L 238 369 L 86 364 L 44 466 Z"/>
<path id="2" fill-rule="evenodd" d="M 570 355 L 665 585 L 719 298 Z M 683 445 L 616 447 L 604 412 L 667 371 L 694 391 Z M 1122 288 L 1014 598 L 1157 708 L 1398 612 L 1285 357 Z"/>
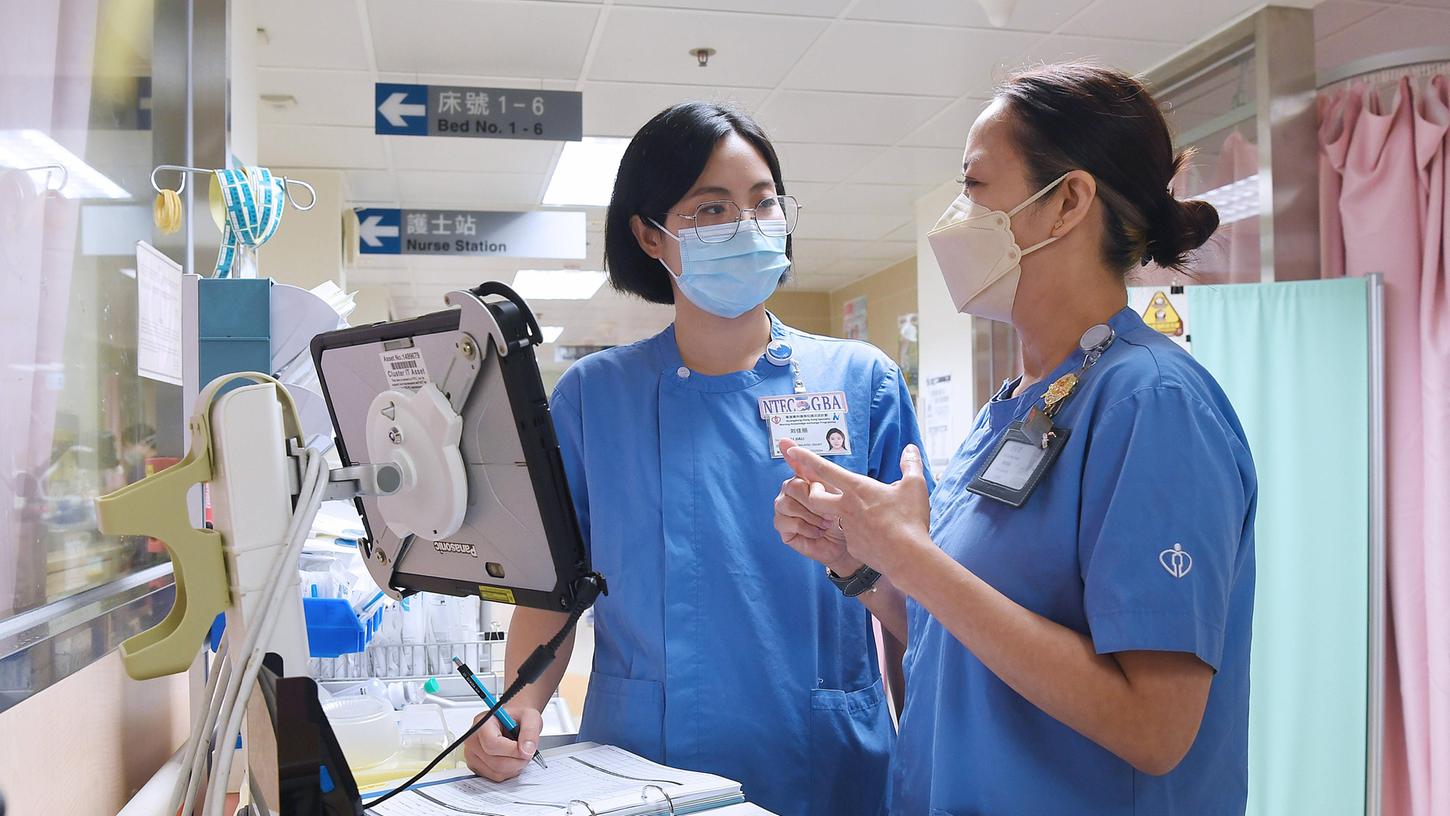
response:
<path id="1" fill-rule="evenodd" d="M 931 497 L 915 445 L 902 451 L 902 478 L 895 484 L 854 474 L 789 439 L 780 442 L 780 452 L 790 470 L 811 483 L 802 504 L 840 523 L 853 558 L 892 575 L 932 546 Z"/>

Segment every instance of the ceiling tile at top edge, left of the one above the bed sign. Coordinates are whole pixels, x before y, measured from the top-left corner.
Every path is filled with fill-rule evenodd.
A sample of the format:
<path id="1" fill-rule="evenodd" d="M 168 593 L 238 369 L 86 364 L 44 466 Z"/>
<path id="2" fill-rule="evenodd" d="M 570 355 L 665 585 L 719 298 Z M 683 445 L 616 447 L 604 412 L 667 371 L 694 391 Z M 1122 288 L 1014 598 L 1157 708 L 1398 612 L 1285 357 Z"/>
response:
<path id="1" fill-rule="evenodd" d="M 257 43 L 258 65 L 371 68 L 354 0 L 261 0 L 257 26 L 267 29 L 265 41 Z M 328 35 L 316 36 L 318 32 Z"/>

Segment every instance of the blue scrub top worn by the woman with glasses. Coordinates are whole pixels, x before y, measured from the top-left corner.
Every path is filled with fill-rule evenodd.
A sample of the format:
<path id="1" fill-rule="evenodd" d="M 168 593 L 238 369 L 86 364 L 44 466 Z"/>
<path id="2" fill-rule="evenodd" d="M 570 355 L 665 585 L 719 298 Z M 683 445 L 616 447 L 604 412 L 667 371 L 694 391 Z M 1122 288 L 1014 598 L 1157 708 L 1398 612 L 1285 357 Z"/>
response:
<path id="1" fill-rule="evenodd" d="M 844 391 L 850 455 L 900 478 L 921 444 L 900 371 L 876 348 L 796 332 L 808 391 Z M 895 741 L 866 609 L 782 544 L 758 400 L 793 393 L 790 367 L 692 372 L 674 329 L 580 359 L 554 423 L 593 565 L 594 671 L 580 739 L 738 780 L 783 816 L 884 809 Z"/>

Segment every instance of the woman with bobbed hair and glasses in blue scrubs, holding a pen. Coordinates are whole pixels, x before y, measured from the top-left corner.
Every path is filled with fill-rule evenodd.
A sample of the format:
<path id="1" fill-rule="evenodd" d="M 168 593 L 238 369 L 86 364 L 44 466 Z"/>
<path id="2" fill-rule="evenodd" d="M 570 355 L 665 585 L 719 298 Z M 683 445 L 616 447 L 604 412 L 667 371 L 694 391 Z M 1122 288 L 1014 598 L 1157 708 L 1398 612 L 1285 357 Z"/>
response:
<path id="1" fill-rule="evenodd" d="M 776 441 L 806 429 L 844 472 L 896 481 L 919 439 L 905 381 L 876 348 L 799 332 L 764 309 L 799 219 L 760 128 L 687 103 L 624 154 L 605 262 L 615 288 L 674 304 L 674 325 L 579 361 L 554 422 L 593 565 L 594 664 L 580 739 L 726 775 L 782 815 L 879 813 L 895 741 L 866 593 L 840 542 L 819 564 L 780 546 Z M 842 445 L 828 444 L 838 429 Z M 561 616 L 518 609 L 508 673 Z M 571 644 L 570 644 L 571 649 Z M 521 744 L 486 726 L 468 764 L 518 774 L 561 655 L 509 706 Z"/>

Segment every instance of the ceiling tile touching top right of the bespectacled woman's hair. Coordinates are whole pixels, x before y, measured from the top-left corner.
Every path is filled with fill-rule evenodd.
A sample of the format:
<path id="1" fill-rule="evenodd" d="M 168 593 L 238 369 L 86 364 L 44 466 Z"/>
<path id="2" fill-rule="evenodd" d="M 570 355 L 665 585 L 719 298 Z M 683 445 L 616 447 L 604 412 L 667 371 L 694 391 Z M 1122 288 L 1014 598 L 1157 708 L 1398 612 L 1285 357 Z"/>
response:
<path id="1" fill-rule="evenodd" d="M 787 142 L 895 145 L 950 100 L 918 96 L 780 91 L 757 117 Z"/>

